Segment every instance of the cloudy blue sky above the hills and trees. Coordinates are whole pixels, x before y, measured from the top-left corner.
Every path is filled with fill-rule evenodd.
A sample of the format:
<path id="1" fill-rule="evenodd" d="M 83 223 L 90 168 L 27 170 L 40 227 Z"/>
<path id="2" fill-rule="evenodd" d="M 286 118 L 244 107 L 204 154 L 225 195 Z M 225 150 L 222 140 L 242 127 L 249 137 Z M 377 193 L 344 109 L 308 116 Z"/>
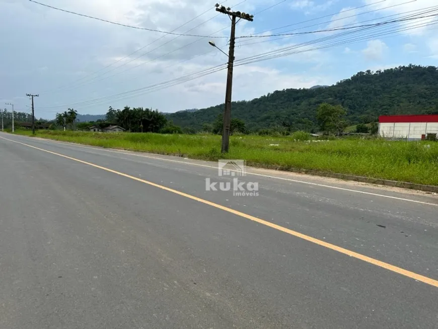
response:
<path id="1" fill-rule="evenodd" d="M 67 108 L 81 114 L 103 114 L 109 106 L 176 112 L 224 103 L 228 58 L 208 41 L 228 53 L 231 24 L 228 16 L 214 10 L 214 2 L 39 2 L 134 27 L 198 36 L 123 27 L 28 0 L 0 0 L 0 107 L 10 110 L 4 104 L 13 103 L 16 111 L 29 111 L 26 94 L 39 94 L 35 116 L 50 119 Z M 359 71 L 409 63 L 438 66 L 438 20 L 431 16 L 438 14 L 436 0 L 227 0 L 221 4 L 254 15 L 253 22 L 241 20 L 236 26 L 234 101 L 275 90 L 332 85 Z M 417 19 L 360 31 L 345 29 L 409 15 Z M 330 31 L 315 32 L 321 30 Z M 274 36 L 285 33 L 295 35 Z M 289 53 L 285 47 L 291 49 Z M 269 51 L 284 56 L 245 60 Z M 214 67 L 223 70 L 206 71 Z"/>

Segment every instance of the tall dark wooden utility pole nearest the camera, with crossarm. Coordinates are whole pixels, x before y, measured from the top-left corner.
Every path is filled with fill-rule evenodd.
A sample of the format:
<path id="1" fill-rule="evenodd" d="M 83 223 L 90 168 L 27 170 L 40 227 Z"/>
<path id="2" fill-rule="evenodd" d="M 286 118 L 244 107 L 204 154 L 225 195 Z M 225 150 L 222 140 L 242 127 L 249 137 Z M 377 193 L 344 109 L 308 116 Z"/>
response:
<path id="1" fill-rule="evenodd" d="M 231 8 L 225 8 L 216 4 L 216 12 L 227 14 L 231 18 L 231 36 L 230 50 L 228 52 L 228 75 L 227 75 L 227 91 L 225 93 L 225 109 L 224 109 L 224 127 L 222 132 L 222 153 L 228 153 L 230 148 L 230 125 L 231 125 L 231 93 L 233 86 L 233 63 L 234 63 L 234 44 L 236 41 L 236 18 L 252 22 L 253 15 L 241 12 L 232 12 Z M 239 22 L 238 21 L 238 22 Z M 211 44 L 211 43 L 210 43 Z"/>

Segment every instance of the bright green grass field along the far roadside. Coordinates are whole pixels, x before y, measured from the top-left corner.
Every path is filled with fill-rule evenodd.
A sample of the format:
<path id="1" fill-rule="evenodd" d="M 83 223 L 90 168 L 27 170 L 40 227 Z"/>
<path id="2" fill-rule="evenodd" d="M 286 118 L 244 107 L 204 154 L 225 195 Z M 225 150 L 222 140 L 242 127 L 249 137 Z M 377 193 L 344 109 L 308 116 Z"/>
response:
<path id="1" fill-rule="evenodd" d="M 16 133 L 31 135 L 30 131 L 25 130 L 18 130 Z M 245 159 L 249 165 L 278 165 L 438 185 L 438 143 L 425 141 L 296 141 L 294 136 L 232 136 L 230 153 L 223 156 L 220 153 L 221 137 L 212 135 L 102 134 L 40 130 L 36 136 L 105 148 L 184 154 L 194 159 Z"/>

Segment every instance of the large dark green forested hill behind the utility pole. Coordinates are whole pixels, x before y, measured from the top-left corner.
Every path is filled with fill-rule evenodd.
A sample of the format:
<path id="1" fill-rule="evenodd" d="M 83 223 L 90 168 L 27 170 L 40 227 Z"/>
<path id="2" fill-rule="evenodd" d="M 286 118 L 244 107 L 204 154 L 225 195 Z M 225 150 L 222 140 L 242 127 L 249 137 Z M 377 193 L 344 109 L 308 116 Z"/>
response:
<path id="1" fill-rule="evenodd" d="M 276 125 L 310 130 L 315 127 L 316 109 L 323 102 L 345 107 L 351 124 L 376 121 L 382 114 L 438 113 L 437 70 L 432 66 L 409 65 L 359 72 L 326 88 L 274 91 L 251 101 L 233 102 L 232 117 L 244 120 L 251 130 Z M 212 123 L 223 109 L 221 104 L 167 117 L 182 127 L 201 129 L 203 123 Z"/>

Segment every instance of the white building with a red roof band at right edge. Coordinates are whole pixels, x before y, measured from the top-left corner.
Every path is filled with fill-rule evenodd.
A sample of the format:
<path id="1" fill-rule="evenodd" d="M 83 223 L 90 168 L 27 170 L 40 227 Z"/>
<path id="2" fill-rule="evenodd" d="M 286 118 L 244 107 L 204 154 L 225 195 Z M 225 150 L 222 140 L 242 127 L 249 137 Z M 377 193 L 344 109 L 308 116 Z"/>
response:
<path id="1" fill-rule="evenodd" d="M 438 134 L 438 115 L 382 115 L 379 136 L 390 139 L 424 140 L 428 134 Z"/>

